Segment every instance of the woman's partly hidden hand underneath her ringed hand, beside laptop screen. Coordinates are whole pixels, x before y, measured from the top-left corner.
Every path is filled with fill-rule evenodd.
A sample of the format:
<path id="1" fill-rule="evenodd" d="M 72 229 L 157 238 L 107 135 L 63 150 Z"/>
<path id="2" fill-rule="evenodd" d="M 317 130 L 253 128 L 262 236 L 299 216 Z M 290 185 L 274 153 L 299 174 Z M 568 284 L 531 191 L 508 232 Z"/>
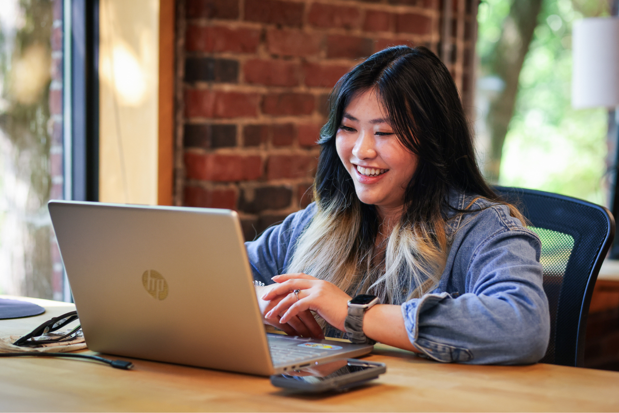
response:
<path id="1" fill-rule="evenodd" d="M 301 336 L 301 337 L 314 337 L 317 339 L 324 339 L 324 333 L 322 329 L 316 323 L 314 315 L 308 311 L 302 311 L 297 316 L 290 318 L 288 321 L 281 323 L 279 315 L 266 316 L 269 311 L 274 308 L 279 302 L 282 301 L 284 296 L 277 296 L 272 300 L 264 300 L 261 297 L 266 293 L 269 293 L 274 287 L 279 284 L 264 285 L 262 287 L 256 287 L 256 295 L 258 296 L 258 306 L 260 307 L 260 313 L 262 315 L 262 321 L 265 324 L 277 327 L 283 330 L 289 336 Z"/>

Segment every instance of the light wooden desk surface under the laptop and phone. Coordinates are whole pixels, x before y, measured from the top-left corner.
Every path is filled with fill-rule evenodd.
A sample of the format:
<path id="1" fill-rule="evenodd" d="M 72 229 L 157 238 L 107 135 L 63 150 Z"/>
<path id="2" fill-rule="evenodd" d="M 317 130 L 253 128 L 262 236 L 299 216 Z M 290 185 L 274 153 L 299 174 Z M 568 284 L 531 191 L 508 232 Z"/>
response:
<path id="1" fill-rule="evenodd" d="M 9 298 L 9 297 L 6 297 Z M 27 333 L 66 303 L 0 320 L 0 334 Z M 112 357 L 115 358 L 115 357 Z M 1 411 L 619 411 L 619 373 L 536 364 L 441 364 L 377 345 L 367 360 L 387 373 L 373 385 L 298 396 L 268 378 L 132 360 L 134 370 L 78 360 L 0 359 Z"/>

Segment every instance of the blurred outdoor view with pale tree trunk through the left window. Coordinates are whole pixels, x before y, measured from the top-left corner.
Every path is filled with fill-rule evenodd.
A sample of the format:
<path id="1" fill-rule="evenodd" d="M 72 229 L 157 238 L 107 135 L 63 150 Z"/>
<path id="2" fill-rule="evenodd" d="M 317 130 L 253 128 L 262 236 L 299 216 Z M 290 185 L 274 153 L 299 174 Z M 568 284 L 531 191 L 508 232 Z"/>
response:
<path id="1" fill-rule="evenodd" d="M 62 65 L 52 49 L 62 45 L 52 44 L 54 23 L 61 29 L 52 6 L 3 0 L 0 7 L 0 292 L 61 299 L 46 211 L 54 127 L 62 130 L 54 124 L 62 109 Z"/>

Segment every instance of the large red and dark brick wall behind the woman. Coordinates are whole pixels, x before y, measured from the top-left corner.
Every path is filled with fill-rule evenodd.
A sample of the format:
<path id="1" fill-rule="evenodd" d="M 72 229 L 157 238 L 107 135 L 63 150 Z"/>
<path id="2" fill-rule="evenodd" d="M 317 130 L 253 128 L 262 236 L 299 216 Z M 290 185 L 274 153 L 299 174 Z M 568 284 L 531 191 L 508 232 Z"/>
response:
<path id="1" fill-rule="evenodd" d="M 477 9 L 443 1 L 179 1 L 175 204 L 235 209 L 247 239 L 305 207 L 327 93 L 386 46 L 440 51 L 470 102 Z"/>

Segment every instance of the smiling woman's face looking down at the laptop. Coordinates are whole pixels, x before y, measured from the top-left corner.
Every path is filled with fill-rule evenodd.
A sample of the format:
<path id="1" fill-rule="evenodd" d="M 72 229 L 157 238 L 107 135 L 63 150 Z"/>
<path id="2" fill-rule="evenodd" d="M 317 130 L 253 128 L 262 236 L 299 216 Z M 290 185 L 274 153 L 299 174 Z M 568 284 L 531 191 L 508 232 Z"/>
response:
<path id="1" fill-rule="evenodd" d="M 374 89 L 350 100 L 335 147 L 361 202 L 376 205 L 383 216 L 401 211 L 406 186 L 417 169 L 417 155 L 393 133 Z"/>

